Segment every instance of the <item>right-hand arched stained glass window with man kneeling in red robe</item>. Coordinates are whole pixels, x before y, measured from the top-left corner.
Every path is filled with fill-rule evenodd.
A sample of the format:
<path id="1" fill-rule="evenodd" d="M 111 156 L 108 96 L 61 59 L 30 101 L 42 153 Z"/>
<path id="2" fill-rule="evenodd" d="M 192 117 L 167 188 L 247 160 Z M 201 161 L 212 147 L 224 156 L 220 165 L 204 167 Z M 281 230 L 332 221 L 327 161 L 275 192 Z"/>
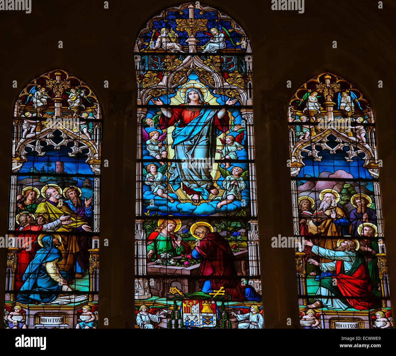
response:
<path id="1" fill-rule="evenodd" d="M 301 327 L 392 327 L 377 141 L 367 98 L 323 73 L 289 104 Z"/>

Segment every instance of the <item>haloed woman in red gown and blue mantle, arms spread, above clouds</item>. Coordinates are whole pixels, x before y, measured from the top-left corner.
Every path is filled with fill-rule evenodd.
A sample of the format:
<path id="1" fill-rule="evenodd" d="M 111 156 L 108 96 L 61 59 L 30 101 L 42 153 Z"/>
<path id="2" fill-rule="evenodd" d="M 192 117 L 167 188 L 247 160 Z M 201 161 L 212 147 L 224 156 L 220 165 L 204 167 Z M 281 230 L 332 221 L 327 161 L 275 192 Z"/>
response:
<path id="1" fill-rule="evenodd" d="M 169 183 L 173 186 L 182 183 L 182 189 L 197 204 L 201 197 L 208 199 L 209 194 L 216 195 L 219 190 L 213 185 L 208 165 L 188 164 L 186 168 L 182 161 L 209 162 L 215 158 L 216 138 L 221 132 L 227 132 L 229 117 L 225 108 L 196 107 L 208 105 L 205 101 L 207 90 L 198 83 L 185 85 L 180 89 L 180 95 L 184 104 L 172 109 L 160 108 L 162 115 L 158 128 L 175 126 L 172 131 L 172 148 L 175 150 L 174 160 L 177 162 L 172 162 L 169 167 Z M 155 105 L 164 105 L 159 98 L 151 101 Z M 234 105 L 237 101 L 228 99 L 226 105 Z"/>

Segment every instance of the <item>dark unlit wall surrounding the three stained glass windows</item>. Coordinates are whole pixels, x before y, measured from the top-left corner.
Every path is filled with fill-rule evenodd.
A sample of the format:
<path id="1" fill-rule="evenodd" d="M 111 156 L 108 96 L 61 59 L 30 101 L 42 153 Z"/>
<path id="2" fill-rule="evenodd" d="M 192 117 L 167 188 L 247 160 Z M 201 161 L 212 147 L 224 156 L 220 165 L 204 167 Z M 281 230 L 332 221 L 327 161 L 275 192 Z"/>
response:
<path id="1" fill-rule="evenodd" d="M 253 49 L 253 99 L 265 327 L 299 327 L 294 249 L 272 249 L 272 236 L 293 236 L 287 104 L 304 82 L 325 71 L 349 80 L 375 114 L 392 305 L 396 305 L 395 20 L 396 2 L 305 0 L 305 13 L 272 11 L 271 1 L 202 2 L 234 18 Z M 170 0 L 55 2 L 32 0 L 32 13 L 0 11 L 0 236 L 7 234 L 11 120 L 23 87 L 60 68 L 97 95 L 104 121 L 101 186 L 99 327 L 134 327 L 136 82 L 133 44 L 143 24 L 177 4 Z M 58 41 L 63 48 L 58 48 Z M 332 42 L 337 41 L 337 49 Z M 12 88 L 17 80 L 17 88 Z M 109 88 L 103 82 L 109 81 Z M 291 80 L 292 88 L 286 88 Z M 383 88 L 378 81 L 383 80 Z M 109 246 L 103 246 L 103 239 Z M 6 249 L 0 250 L 0 301 Z M 109 326 L 103 326 L 109 318 Z M 286 319 L 291 318 L 291 326 Z"/>

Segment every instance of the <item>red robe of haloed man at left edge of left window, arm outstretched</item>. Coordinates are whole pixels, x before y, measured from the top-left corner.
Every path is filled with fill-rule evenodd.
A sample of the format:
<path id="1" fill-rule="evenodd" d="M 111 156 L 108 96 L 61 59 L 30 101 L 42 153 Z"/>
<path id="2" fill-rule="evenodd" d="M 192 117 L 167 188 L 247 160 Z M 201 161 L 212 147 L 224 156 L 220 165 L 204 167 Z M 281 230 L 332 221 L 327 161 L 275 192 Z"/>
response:
<path id="1" fill-rule="evenodd" d="M 41 231 L 42 225 L 27 225 L 24 228 L 19 228 L 21 231 L 31 230 L 31 231 Z M 29 244 L 30 238 L 30 251 L 27 251 L 27 244 Z M 19 234 L 17 241 L 21 241 L 21 249 L 17 252 L 17 270 L 15 271 L 15 287 L 17 290 L 21 289 L 23 286 L 22 278 L 25 274 L 29 263 L 32 261 L 36 252 L 41 248 L 37 243 L 38 234 Z"/>

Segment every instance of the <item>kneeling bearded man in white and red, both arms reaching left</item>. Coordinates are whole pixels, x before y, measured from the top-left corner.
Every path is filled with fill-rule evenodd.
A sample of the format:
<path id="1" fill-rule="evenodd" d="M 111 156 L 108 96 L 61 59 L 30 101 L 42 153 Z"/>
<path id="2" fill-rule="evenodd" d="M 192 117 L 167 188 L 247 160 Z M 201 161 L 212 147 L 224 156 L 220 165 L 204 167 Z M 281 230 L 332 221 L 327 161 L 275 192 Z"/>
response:
<path id="1" fill-rule="evenodd" d="M 363 256 L 356 253 L 357 242 L 345 240 L 334 250 L 319 247 L 308 240 L 304 240 L 304 244 L 311 246 L 315 255 L 331 261 L 319 263 L 314 259 L 308 259 L 308 263 L 320 266 L 322 271 L 333 274 L 320 280 L 315 303 L 308 305 L 308 308 L 369 310 L 376 306 L 377 303 L 371 293 L 371 280 L 366 261 Z M 356 297 L 360 298 L 356 299 Z"/>

